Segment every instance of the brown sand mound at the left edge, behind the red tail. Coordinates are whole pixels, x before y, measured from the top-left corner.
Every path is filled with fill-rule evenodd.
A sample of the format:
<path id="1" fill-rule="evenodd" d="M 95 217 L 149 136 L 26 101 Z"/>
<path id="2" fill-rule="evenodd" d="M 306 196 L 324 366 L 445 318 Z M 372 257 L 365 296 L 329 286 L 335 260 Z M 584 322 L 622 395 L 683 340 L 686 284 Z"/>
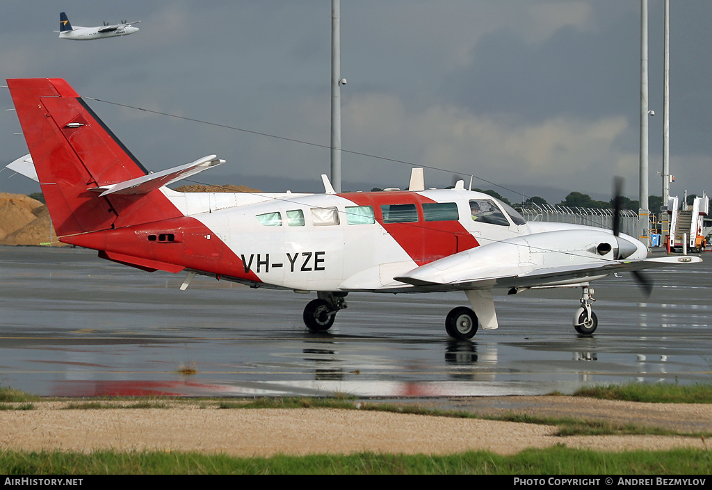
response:
<path id="1" fill-rule="evenodd" d="M 47 207 L 23 194 L 0 192 L 0 245 L 63 245 L 57 241 Z"/>

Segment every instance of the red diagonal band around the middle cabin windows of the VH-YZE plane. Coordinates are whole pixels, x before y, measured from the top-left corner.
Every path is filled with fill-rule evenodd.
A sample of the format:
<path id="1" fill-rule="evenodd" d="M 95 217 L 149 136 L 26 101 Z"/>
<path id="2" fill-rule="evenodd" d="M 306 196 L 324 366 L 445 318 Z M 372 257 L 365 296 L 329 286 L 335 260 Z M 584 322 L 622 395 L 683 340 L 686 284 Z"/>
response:
<path id="1" fill-rule="evenodd" d="M 436 201 L 417 192 L 354 192 L 339 196 L 358 206 L 372 206 L 376 221 L 419 266 L 479 246 L 459 221 L 424 221 L 423 203 Z M 415 204 L 419 221 L 384 223 L 381 206 L 385 204 Z"/>

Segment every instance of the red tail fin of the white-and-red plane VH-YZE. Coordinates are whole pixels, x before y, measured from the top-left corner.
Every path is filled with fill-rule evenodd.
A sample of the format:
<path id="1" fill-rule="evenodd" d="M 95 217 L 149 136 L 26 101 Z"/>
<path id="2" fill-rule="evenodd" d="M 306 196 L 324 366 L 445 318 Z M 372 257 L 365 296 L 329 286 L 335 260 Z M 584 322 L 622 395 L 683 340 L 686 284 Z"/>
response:
<path id="1" fill-rule="evenodd" d="M 58 236 L 182 216 L 159 190 L 92 190 L 148 172 L 65 80 L 7 82 Z"/>

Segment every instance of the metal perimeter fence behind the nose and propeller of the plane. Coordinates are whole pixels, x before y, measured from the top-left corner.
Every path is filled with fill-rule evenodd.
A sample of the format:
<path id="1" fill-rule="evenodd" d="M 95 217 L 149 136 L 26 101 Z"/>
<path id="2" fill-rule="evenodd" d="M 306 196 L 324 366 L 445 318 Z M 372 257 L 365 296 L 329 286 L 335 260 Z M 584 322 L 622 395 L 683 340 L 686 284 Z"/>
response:
<path id="1" fill-rule="evenodd" d="M 612 209 L 593 209 L 588 207 L 566 207 L 552 204 L 527 204 L 517 207 L 518 212 L 527 221 L 554 221 L 556 223 L 585 224 L 598 228 L 613 229 Z M 637 236 L 638 213 L 629 209 L 621 210 L 620 231 L 630 236 Z"/>

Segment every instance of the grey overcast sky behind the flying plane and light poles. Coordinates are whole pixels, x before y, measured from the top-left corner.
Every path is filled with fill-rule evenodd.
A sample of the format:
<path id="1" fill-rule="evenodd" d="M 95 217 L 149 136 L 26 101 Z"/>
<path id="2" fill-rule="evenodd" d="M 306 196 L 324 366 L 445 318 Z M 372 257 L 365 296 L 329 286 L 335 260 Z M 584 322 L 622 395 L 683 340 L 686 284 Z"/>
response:
<path id="1" fill-rule="evenodd" d="M 712 186 L 712 2 L 672 0 L 671 194 Z M 323 190 L 330 172 L 330 0 L 4 0 L 0 78 L 65 78 L 150 170 L 216 154 L 200 182 Z M 141 20 L 123 38 L 58 38 Z M 649 0 L 649 189 L 661 194 L 663 0 Z M 475 179 L 511 200 L 638 198 L 639 0 L 341 0 L 342 187 Z M 3 108 L 11 108 L 0 89 Z M 0 117 L 0 164 L 26 154 Z M 38 184 L 0 172 L 0 192 Z M 468 177 L 465 177 L 468 180 Z M 293 179 L 288 182 L 283 179 Z M 505 189 L 495 187 L 493 182 Z"/>

